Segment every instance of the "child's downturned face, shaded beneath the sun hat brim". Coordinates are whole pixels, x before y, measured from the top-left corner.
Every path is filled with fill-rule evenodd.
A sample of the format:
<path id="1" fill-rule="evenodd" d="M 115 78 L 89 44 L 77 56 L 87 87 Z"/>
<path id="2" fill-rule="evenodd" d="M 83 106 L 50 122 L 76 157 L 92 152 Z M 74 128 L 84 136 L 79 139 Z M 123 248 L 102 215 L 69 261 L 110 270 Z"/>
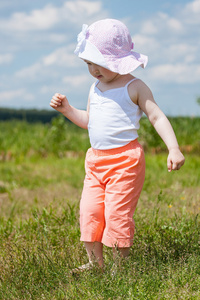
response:
<path id="1" fill-rule="evenodd" d="M 99 65 L 96 65 L 88 60 L 84 60 L 86 64 L 88 65 L 88 70 L 90 74 L 97 78 L 100 82 L 112 82 L 116 78 L 120 76 L 118 73 L 114 73 L 104 67 L 101 67 Z"/>

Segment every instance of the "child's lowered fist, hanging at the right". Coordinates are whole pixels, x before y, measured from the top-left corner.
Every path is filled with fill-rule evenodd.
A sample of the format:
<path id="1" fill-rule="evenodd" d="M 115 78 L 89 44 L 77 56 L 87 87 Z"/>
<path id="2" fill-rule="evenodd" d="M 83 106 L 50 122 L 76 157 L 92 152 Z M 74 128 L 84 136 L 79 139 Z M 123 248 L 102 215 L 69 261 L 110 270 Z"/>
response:
<path id="1" fill-rule="evenodd" d="M 185 158 L 179 148 L 173 148 L 169 151 L 167 158 L 168 171 L 179 170 L 185 162 Z"/>

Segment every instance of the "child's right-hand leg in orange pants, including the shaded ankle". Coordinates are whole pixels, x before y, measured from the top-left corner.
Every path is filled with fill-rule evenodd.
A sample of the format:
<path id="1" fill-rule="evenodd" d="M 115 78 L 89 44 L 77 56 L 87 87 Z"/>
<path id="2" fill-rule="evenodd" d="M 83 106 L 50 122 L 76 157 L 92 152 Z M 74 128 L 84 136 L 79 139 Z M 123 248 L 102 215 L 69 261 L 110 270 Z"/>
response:
<path id="1" fill-rule="evenodd" d="M 113 154 L 106 164 L 111 171 L 109 178 L 106 177 L 109 180 L 105 188 L 102 243 L 108 247 L 116 247 L 114 251 L 126 257 L 133 244 L 133 214 L 144 182 L 145 160 L 143 149 L 137 141 L 123 149 L 122 153 Z"/>

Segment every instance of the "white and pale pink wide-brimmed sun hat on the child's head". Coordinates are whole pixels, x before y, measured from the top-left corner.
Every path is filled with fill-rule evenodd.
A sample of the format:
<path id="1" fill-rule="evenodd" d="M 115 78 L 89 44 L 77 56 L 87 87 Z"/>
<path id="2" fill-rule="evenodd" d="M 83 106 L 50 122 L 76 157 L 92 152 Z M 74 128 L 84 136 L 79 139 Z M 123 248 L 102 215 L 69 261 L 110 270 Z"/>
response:
<path id="1" fill-rule="evenodd" d="M 148 57 L 132 51 L 134 44 L 128 28 L 115 19 L 104 19 L 83 25 L 75 54 L 119 74 L 146 67 Z"/>

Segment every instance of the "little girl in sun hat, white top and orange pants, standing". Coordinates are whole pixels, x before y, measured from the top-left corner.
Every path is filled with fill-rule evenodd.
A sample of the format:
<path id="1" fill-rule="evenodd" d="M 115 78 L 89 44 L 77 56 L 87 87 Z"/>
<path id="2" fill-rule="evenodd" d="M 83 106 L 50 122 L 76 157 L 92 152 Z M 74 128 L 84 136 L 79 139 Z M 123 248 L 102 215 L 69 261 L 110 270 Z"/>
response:
<path id="1" fill-rule="evenodd" d="M 145 178 L 144 153 L 137 141 L 143 112 L 169 150 L 168 171 L 184 164 L 174 131 L 150 89 L 130 74 L 139 66 L 145 68 L 148 60 L 132 49 L 129 31 L 118 20 L 83 25 L 75 54 L 97 79 L 89 92 L 87 111 L 74 108 L 58 93 L 50 102 L 89 131 L 91 148 L 86 154 L 80 202 L 81 241 L 89 263 L 80 270 L 94 262 L 103 266 L 103 244 L 112 247 L 114 255 L 118 250 L 122 257 L 128 256 L 133 244 L 133 214 Z"/>

